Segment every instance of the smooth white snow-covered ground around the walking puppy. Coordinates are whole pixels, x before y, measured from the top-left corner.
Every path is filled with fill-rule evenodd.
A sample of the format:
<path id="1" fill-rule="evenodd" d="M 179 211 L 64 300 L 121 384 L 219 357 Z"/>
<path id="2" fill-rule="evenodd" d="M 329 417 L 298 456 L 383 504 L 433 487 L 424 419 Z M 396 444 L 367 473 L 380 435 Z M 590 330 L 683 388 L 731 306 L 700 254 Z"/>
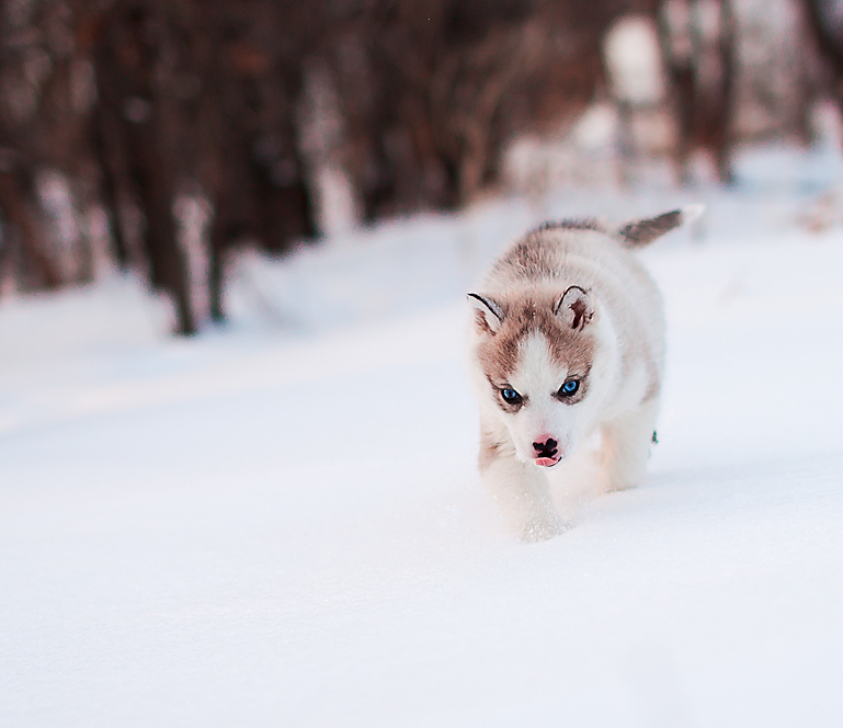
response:
<path id="1" fill-rule="evenodd" d="M 832 161 L 244 255 L 192 341 L 130 280 L 0 302 L 0 725 L 841 725 Z M 643 253 L 649 482 L 519 543 L 476 473 L 464 291 L 545 215 L 700 198 Z"/>

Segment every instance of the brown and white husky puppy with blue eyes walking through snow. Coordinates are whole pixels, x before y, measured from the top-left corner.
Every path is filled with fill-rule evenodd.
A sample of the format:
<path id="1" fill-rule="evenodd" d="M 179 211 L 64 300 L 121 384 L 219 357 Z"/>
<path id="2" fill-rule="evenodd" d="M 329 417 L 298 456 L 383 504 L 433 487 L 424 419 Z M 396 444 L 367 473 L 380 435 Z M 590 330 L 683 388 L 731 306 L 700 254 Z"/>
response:
<path id="1" fill-rule="evenodd" d="M 659 410 L 664 312 L 631 249 L 699 212 L 619 227 L 546 223 L 498 260 L 480 293 L 468 294 L 480 473 L 523 539 L 562 530 L 548 477 L 570 471 L 557 466 L 570 464 L 583 441 L 600 440 L 589 454 L 592 488 L 641 481 Z"/>

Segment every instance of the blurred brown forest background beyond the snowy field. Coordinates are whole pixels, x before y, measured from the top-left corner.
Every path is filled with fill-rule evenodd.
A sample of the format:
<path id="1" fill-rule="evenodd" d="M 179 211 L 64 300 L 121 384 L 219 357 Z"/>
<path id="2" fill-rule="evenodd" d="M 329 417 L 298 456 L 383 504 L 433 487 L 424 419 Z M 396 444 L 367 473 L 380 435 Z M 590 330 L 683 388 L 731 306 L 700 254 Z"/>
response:
<path id="1" fill-rule="evenodd" d="M 808 145 L 816 102 L 843 107 L 843 0 L 0 8 L 0 296 L 116 263 L 180 333 L 224 318 L 236 246 L 648 160 L 688 184 L 700 150 L 733 184 L 736 145 Z"/>

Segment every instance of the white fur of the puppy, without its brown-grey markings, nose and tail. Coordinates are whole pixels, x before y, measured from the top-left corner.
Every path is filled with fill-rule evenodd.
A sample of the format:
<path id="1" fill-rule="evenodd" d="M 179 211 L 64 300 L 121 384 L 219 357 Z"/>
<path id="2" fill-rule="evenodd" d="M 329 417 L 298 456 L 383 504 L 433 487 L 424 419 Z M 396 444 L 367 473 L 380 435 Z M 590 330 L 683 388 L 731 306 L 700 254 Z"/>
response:
<path id="1" fill-rule="evenodd" d="M 594 304 L 588 332 L 595 346 L 585 396 L 570 405 L 554 397 L 570 374 L 568 367 L 551 354 L 552 342 L 532 330 L 519 341 L 516 366 L 510 380 L 502 383 L 525 396 L 526 403 L 517 412 L 508 412 L 495 400 L 500 393 L 477 354 L 485 341 L 493 342 L 500 321 L 492 321 L 493 328 L 471 327 L 471 375 L 479 394 L 480 425 L 487 445 L 493 443 L 481 452 L 482 480 L 525 541 L 549 538 L 562 530 L 550 501 L 550 481 L 561 491 L 578 494 L 641 482 L 659 410 L 664 354 L 661 296 L 617 238 L 581 229 L 549 229 L 533 236 L 558 243 L 559 264 L 552 274 L 508 268 L 504 255 L 481 293 L 512 310 L 537 292 L 552 288 L 561 294 L 570 285 L 582 286 Z M 551 252 L 556 254 L 555 249 Z M 558 443 L 562 458 L 556 466 L 535 464 L 533 443 L 543 436 Z M 589 443 L 594 442 L 596 448 L 590 450 Z"/>

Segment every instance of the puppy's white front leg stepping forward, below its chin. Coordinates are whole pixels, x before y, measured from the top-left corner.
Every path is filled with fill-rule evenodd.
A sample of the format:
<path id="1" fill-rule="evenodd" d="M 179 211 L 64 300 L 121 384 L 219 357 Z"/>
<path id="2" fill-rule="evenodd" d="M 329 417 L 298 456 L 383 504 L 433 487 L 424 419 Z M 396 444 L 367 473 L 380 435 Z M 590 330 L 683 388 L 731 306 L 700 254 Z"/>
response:
<path id="1" fill-rule="evenodd" d="M 547 541 L 562 532 L 547 478 L 515 457 L 509 437 L 481 434 L 480 477 L 522 541 Z"/>

